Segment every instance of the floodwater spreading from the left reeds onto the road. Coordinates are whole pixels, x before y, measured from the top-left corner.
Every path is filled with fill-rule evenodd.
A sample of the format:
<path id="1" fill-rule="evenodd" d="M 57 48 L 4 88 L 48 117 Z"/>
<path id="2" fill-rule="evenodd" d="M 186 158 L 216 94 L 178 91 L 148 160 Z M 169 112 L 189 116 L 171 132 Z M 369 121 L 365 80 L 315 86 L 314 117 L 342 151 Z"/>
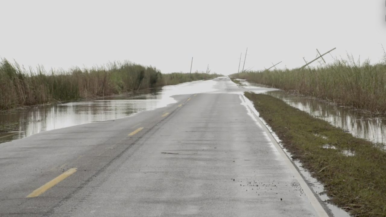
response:
<path id="1" fill-rule="evenodd" d="M 127 117 L 175 103 L 173 95 L 214 92 L 217 82 L 193 81 L 99 100 L 39 105 L 0 112 L 0 143 L 77 124 Z"/>

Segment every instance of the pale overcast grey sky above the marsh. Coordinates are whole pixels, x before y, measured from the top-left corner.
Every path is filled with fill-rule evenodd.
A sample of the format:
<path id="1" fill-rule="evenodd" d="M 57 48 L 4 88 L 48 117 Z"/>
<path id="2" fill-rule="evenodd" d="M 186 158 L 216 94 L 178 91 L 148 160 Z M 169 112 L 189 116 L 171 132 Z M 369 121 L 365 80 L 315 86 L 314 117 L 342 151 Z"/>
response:
<path id="1" fill-rule="evenodd" d="M 162 73 L 229 75 L 296 68 L 320 53 L 370 59 L 386 49 L 384 0 L 3 0 L 0 57 L 25 67 L 91 67 L 109 61 Z M 320 63 L 315 61 L 313 66 Z"/>

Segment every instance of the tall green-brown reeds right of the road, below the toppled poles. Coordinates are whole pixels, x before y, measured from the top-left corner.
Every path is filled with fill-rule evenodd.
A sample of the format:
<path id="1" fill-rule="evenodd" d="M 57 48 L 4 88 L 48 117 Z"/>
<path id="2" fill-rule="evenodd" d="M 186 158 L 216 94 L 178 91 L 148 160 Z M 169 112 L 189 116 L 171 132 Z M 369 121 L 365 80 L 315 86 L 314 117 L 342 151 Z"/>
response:
<path id="1" fill-rule="evenodd" d="M 249 71 L 231 75 L 254 83 L 386 114 L 386 54 L 383 63 L 352 57 L 317 68 Z"/>

